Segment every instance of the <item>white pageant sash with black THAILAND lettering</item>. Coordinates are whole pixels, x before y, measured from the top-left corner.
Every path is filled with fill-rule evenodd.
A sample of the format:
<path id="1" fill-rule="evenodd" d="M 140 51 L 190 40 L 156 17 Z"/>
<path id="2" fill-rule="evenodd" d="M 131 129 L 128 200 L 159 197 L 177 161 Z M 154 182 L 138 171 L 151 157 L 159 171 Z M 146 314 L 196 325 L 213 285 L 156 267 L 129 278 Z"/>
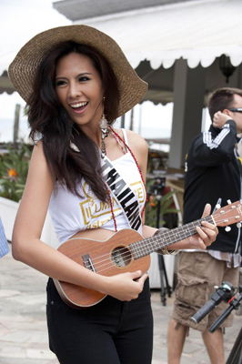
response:
<path id="1" fill-rule="evenodd" d="M 126 184 L 126 181 L 119 175 L 107 157 L 104 157 L 101 163 L 106 185 L 109 187 L 113 196 L 116 197 L 116 201 L 124 212 L 129 227 L 138 230 L 142 225 L 142 220 L 136 194 Z"/>

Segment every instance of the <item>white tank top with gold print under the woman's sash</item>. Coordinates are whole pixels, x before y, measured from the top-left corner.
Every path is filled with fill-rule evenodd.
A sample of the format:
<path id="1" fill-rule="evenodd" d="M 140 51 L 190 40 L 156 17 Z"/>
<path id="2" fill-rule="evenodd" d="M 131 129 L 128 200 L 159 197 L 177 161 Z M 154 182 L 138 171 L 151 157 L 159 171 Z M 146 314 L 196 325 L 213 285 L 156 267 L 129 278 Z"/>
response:
<path id="1" fill-rule="evenodd" d="M 126 131 L 123 134 L 126 145 Z M 118 174 L 123 177 L 126 184 L 134 191 L 140 212 L 145 206 L 146 189 L 140 177 L 136 162 L 129 151 L 111 162 Z M 77 197 L 67 190 L 66 187 L 56 183 L 55 192 L 52 193 L 49 203 L 49 213 L 55 227 L 55 233 L 59 245 L 74 236 L 78 231 L 87 228 L 102 227 L 115 231 L 115 224 L 111 213 L 109 201 L 100 201 L 92 192 L 86 181 L 83 180 L 79 187 L 83 198 Z M 116 197 L 112 198 L 114 215 L 116 217 L 117 231 L 129 228 L 123 210 L 119 207 Z M 137 230 L 142 234 L 142 225 Z M 55 248 L 59 247 L 56 246 Z"/>

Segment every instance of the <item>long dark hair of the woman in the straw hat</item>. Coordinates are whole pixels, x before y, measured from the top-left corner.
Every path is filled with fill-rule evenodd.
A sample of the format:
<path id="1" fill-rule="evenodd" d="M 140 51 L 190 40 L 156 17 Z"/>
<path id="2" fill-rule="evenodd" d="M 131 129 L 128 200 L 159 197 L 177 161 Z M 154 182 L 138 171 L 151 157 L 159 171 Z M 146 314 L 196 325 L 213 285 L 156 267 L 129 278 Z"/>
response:
<path id="1" fill-rule="evenodd" d="M 39 67 L 34 93 L 28 102 L 30 137 L 34 141 L 36 136 L 42 137 L 46 161 L 58 182 L 82 197 L 77 191 L 77 186 L 84 178 L 96 197 L 106 201 L 106 186 L 100 171 L 98 147 L 75 126 L 55 94 L 56 64 L 62 56 L 70 53 L 88 56 L 92 61 L 102 80 L 106 97 L 106 119 L 110 125 L 115 121 L 120 95 L 116 75 L 108 60 L 90 46 L 67 41 L 56 45 Z M 70 139 L 75 139 L 79 152 L 69 146 Z"/>

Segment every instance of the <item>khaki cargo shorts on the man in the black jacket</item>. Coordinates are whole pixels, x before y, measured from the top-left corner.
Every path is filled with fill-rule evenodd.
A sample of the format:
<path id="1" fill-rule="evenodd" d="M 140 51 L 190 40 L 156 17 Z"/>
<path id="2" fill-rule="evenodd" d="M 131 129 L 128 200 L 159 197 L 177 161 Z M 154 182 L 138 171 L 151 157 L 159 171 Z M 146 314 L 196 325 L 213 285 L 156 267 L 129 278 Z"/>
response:
<path id="1" fill-rule="evenodd" d="M 215 292 L 215 286 L 228 281 L 238 286 L 239 267 L 227 268 L 223 260 L 217 260 L 205 252 L 180 252 L 178 261 L 178 283 L 175 289 L 175 303 L 172 319 L 193 329 L 204 331 L 228 308 L 221 302 L 198 324 L 190 318 L 202 308 Z M 232 326 L 233 314 L 220 328 Z"/>

